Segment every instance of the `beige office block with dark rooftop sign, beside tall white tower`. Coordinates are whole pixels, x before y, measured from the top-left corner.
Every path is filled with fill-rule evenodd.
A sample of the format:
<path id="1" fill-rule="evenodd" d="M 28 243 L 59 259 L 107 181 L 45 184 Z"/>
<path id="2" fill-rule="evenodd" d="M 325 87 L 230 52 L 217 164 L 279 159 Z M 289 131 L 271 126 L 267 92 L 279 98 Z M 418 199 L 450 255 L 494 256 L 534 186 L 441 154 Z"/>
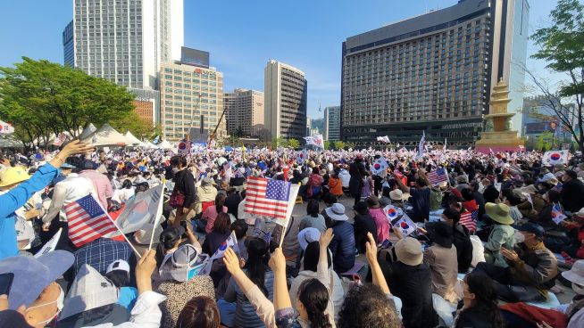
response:
<path id="1" fill-rule="evenodd" d="M 165 138 L 179 140 L 188 134 L 211 135 L 223 113 L 223 73 L 213 67 L 205 69 L 181 61 L 163 63 L 160 98 Z M 223 118 L 216 136 L 225 135 Z M 197 137 L 192 139 L 196 141 Z"/>

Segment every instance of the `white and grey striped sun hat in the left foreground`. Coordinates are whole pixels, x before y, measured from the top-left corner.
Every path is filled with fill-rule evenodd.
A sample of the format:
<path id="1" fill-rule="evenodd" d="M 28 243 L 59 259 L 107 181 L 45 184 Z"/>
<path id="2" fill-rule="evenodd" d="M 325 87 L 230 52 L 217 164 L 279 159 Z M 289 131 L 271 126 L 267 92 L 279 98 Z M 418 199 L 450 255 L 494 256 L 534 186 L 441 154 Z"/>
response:
<path id="1" fill-rule="evenodd" d="M 206 265 L 209 258 L 191 244 L 184 244 L 171 254 L 166 254 L 160 265 L 159 274 L 163 280 L 187 282 L 197 275 Z"/>

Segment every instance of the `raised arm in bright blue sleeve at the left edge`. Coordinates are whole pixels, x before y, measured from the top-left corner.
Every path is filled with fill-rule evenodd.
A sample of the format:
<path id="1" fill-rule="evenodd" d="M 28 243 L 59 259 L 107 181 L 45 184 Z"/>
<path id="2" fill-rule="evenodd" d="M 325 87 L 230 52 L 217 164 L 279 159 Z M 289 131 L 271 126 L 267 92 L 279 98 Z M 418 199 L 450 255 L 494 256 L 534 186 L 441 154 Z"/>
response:
<path id="1" fill-rule="evenodd" d="M 38 168 L 37 172 L 30 176 L 28 180 L 7 185 L 10 191 L 0 195 L 0 259 L 18 254 L 16 228 L 14 226 L 16 215 L 14 211 L 20 209 L 34 193 L 45 188 L 59 175 L 58 168 L 63 165 L 67 157 L 80 152 L 91 151 L 93 151 L 93 147 L 87 143 L 80 143 L 78 140 L 67 143 L 63 150 L 54 156 L 53 160 Z M 11 171 L 18 174 L 18 170 Z M 8 174 L 4 175 L 4 178 L 8 178 L 8 176 Z"/>

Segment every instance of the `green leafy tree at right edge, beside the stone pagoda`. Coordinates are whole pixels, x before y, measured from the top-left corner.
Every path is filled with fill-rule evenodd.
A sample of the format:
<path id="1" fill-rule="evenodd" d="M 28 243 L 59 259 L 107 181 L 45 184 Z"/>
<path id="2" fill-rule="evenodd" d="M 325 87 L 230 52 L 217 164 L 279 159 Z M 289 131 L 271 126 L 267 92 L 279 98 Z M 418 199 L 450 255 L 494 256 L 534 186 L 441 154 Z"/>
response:
<path id="1" fill-rule="evenodd" d="M 546 61 L 548 70 L 563 73 L 568 78 L 555 88 L 529 70 L 526 72 L 548 99 L 550 113 L 557 116 L 578 143 L 580 152 L 584 152 L 584 5 L 579 0 L 559 0 L 549 17 L 550 26 L 536 30 L 531 36 L 539 46 L 532 57 Z M 571 108 L 566 102 L 576 105 Z"/>

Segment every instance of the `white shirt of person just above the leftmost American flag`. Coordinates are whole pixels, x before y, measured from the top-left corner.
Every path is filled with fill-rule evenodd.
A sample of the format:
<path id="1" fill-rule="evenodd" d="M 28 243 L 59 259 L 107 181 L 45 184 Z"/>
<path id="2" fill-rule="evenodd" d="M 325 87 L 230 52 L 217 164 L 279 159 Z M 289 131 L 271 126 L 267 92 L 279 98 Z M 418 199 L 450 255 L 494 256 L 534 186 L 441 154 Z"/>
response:
<path id="1" fill-rule="evenodd" d="M 59 214 L 59 219 L 66 222 L 65 205 L 72 201 L 77 201 L 88 194 L 92 194 L 98 201 L 93 183 L 87 177 L 79 176 L 76 173 L 69 174 L 63 181 L 54 185 L 51 206 L 49 206 L 45 217 L 43 217 L 43 223 L 50 223 L 57 213 Z"/>

